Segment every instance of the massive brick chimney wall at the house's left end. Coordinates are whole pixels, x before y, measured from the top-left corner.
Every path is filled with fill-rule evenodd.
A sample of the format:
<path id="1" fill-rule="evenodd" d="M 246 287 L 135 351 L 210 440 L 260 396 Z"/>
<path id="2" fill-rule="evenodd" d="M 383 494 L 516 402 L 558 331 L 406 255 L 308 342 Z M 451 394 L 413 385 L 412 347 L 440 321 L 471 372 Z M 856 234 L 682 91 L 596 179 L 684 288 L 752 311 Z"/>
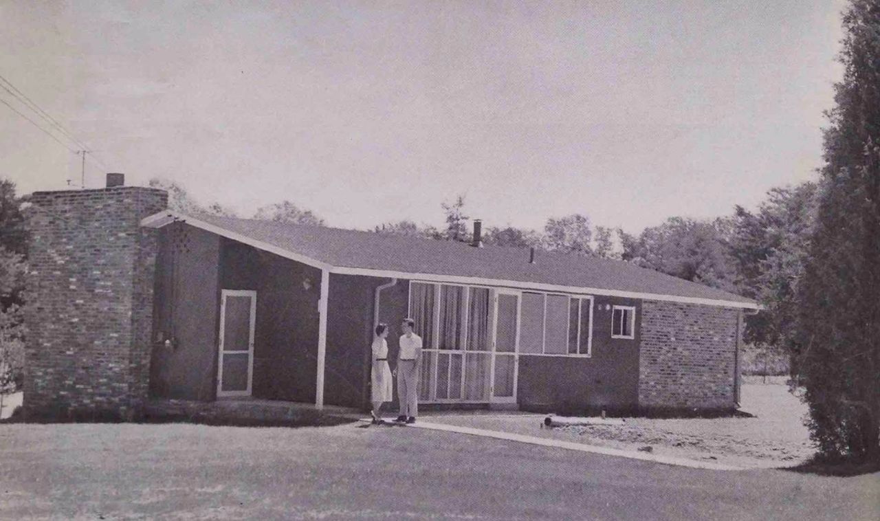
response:
<path id="1" fill-rule="evenodd" d="M 147 397 L 156 231 L 167 194 L 37 192 L 28 226 L 26 415 L 137 414 Z"/>

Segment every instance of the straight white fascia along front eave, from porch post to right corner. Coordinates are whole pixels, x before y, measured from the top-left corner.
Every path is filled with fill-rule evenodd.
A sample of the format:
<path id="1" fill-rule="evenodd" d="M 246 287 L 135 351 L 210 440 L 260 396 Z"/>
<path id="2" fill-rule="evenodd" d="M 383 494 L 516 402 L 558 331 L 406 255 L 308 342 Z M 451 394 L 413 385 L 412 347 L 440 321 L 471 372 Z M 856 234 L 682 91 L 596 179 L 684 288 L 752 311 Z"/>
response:
<path id="1" fill-rule="evenodd" d="M 364 275 L 385 278 L 399 278 L 429 283 L 458 283 L 473 284 L 476 286 L 493 286 L 513 288 L 517 290 L 558 291 L 572 295 L 603 295 L 606 297 L 640 298 L 643 300 L 659 300 L 664 302 L 678 302 L 681 304 L 714 305 L 718 307 L 730 307 L 737 309 L 761 309 L 760 305 L 737 302 L 734 300 L 717 300 L 713 298 L 679 297 L 678 295 L 663 295 L 658 293 L 640 293 L 637 291 L 605 290 L 601 288 L 584 288 L 579 286 L 563 286 L 559 284 L 526 283 L 522 281 L 509 281 L 502 279 L 487 279 L 482 277 L 460 275 L 436 275 L 428 273 L 406 273 L 402 271 L 387 271 L 369 268 L 346 268 L 337 266 L 330 268 L 330 273 L 339 275 Z"/>

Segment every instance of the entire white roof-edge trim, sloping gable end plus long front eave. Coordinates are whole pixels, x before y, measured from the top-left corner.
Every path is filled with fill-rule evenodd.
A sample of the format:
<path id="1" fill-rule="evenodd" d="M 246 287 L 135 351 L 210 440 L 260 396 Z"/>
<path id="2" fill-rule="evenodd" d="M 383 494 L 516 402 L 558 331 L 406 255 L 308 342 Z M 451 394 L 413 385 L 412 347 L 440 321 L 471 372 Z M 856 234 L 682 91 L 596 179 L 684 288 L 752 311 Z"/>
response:
<path id="1" fill-rule="evenodd" d="M 216 226 L 215 224 L 210 224 L 208 222 L 199 219 L 198 217 L 189 216 L 187 214 L 180 213 L 175 210 L 166 209 L 160 211 L 151 216 L 144 217 L 141 220 L 141 225 L 147 228 L 162 228 L 168 224 L 172 223 L 186 223 L 190 226 L 194 226 L 196 228 L 200 228 L 204 231 L 209 231 L 211 233 L 215 233 L 221 237 L 230 238 L 232 240 L 236 240 L 238 242 L 244 243 L 248 246 L 253 246 L 260 250 L 275 253 L 276 255 L 283 257 L 285 259 L 290 259 L 291 261 L 301 262 L 307 266 L 312 266 L 313 268 L 319 268 L 321 270 L 326 270 L 329 273 L 334 273 L 338 275 L 362 275 L 362 276 L 372 276 L 372 277 L 384 277 L 384 278 L 399 278 L 399 279 L 409 279 L 414 281 L 423 281 L 427 283 L 458 283 L 458 284 L 466 284 L 473 286 L 490 286 L 490 287 L 502 287 L 502 288 L 513 288 L 517 290 L 534 290 L 534 291 L 548 291 L 548 292 L 560 292 L 560 293 L 570 293 L 573 295 L 602 295 L 606 297 L 623 297 L 623 298 L 641 298 L 645 300 L 658 300 L 663 302 L 677 302 L 680 304 L 696 304 L 696 305 L 713 305 L 718 307 L 729 307 L 735 309 L 744 309 L 744 310 L 755 310 L 759 311 L 762 309 L 762 306 L 751 303 L 751 302 L 740 302 L 736 300 L 722 300 L 715 298 L 701 298 L 701 297 L 680 297 L 678 295 L 664 295 L 658 293 L 643 293 L 638 291 L 624 291 L 624 290 L 606 290 L 603 288 L 586 288 L 580 286 L 565 286 L 560 284 L 547 284 L 547 283 L 528 283 L 523 281 L 510 281 L 504 279 L 492 279 L 485 277 L 474 277 L 474 276 L 463 276 L 463 275 L 443 275 L 443 274 L 429 274 L 429 273 L 411 273 L 404 271 L 392 271 L 392 270 L 384 270 L 384 269 L 373 269 L 373 268 L 354 268 L 354 267 L 345 267 L 345 266 L 333 266 L 324 261 L 319 261 L 317 259 L 313 259 L 312 257 L 308 257 L 306 255 L 291 252 L 288 249 L 275 246 L 269 244 L 265 241 L 261 241 L 256 238 L 248 237 L 236 231 L 227 230 L 220 226 Z"/>

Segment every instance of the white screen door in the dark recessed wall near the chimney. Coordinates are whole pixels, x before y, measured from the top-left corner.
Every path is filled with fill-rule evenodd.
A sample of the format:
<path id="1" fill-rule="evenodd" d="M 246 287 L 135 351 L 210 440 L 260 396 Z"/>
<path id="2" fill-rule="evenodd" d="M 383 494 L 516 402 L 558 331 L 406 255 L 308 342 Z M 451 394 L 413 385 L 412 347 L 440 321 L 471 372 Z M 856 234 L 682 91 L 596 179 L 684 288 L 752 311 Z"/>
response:
<path id="1" fill-rule="evenodd" d="M 217 396 L 251 395 L 256 310 L 256 291 L 222 291 Z"/>

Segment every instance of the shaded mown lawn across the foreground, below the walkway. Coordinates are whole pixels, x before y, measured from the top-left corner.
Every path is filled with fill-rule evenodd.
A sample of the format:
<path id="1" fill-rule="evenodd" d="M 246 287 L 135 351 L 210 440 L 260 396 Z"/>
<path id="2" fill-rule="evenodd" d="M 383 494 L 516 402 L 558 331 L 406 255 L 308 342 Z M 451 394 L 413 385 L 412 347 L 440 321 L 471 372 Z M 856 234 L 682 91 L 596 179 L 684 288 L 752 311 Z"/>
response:
<path id="1" fill-rule="evenodd" d="M 880 475 L 720 472 L 406 427 L 0 425 L 4 518 L 874 519 Z"/>

